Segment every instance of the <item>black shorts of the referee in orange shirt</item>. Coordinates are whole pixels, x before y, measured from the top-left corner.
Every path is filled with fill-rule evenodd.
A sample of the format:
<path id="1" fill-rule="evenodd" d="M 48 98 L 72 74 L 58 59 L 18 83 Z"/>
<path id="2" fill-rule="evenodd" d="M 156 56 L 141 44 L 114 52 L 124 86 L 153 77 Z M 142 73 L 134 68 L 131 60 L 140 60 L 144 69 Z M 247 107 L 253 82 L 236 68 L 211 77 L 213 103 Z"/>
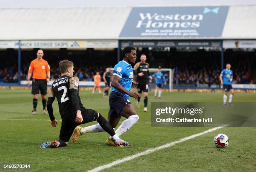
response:
<path id="1" fill-rule="evenodd" d="M 39 94 L 39 90 L 41 95 L 47 95 L 47 81 L 46 80 L 33 80 L 32 81 L 32 95 Z"/>

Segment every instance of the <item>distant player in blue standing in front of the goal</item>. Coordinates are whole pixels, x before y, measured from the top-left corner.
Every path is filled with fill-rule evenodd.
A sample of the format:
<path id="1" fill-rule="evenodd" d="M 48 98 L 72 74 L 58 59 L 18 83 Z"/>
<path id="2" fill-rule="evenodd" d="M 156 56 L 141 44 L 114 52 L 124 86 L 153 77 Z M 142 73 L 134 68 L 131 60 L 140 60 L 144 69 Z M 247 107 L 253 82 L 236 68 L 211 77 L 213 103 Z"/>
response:
<path id="1" fill-rule="evenodd" d="M 151 75 L 151 77 L 154 77 L 156 80 L 156 90 L 155 90 L 155 98 L 158 92 L 158 98 L 161 98 L 161 92 L 162 92 L 162 84 L 164 80 L 164 85 L 166 85 L 166 79 L 164 77 L 164 74 L 161 72 L 161 66 L 158 67 L 158 70 L 156 73 Z"/>

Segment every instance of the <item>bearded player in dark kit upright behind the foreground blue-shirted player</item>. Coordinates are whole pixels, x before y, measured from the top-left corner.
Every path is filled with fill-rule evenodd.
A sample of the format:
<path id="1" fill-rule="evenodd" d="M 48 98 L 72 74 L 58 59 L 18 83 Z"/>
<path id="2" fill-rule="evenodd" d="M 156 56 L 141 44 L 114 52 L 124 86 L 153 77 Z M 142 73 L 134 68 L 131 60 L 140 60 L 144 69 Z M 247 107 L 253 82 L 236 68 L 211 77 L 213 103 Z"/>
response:
<path id="1" fill-rule="evenodd" d="M 144 96 L 144 112 L 148 111 L 148 79 L 152 79 L 149 75 L 149 65 L 146 63 L 146 55 L 141 55 L 141 62 L 138 62 L 134 65 L 134 74 L 137 74 L 137 82 L 138 82 L 138 102 L 137 107 L 140 107 L 141 93 L 143 92 Z"/>

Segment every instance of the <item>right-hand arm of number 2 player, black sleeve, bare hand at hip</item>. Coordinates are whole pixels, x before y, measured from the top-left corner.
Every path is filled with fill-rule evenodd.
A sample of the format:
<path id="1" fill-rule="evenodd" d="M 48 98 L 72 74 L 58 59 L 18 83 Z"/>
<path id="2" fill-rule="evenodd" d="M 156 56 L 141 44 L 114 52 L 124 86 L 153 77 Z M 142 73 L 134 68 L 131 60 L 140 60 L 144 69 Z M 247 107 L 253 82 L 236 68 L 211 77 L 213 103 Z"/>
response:
<path id="1" fill-rule="evenodd" d="M 75 111 L 77 112 L 76 122 L 81 123 L 83 122 L 83 117 L 81 114 L 81 109 L 79 105 L 78 99 L 78 86 L 79 86 L 79 79 L 78 77 L 70 77 L 69 78 L 69 92 L 71 94 L 72 103 L 74 106 Z"/>

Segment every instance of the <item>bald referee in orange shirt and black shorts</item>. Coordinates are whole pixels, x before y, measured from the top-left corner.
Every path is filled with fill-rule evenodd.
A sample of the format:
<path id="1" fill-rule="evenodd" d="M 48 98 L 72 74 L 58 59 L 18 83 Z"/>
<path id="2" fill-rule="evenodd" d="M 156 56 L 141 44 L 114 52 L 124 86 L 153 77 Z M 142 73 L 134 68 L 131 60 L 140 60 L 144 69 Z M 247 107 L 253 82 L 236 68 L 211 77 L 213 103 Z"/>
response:
<path id="1" fill-rule="evenodd" d="M 43 113 L 46 112 L 46 94 L 47 94 L 47 82 L 50 81 L 50 66 L 46 60 L 43 59 L 44 52 L 43 50 L 38 50 L 37 58 L 32 60 L 28 69 L 28 86 L 30 85 L 30 78 L 33 73 L 32 81 L 32 92 L 33 94 L 33 111 L 32 115 L 36 115 L 36 106 L 39 90 L 42 96 L 43 103 Z"/>

